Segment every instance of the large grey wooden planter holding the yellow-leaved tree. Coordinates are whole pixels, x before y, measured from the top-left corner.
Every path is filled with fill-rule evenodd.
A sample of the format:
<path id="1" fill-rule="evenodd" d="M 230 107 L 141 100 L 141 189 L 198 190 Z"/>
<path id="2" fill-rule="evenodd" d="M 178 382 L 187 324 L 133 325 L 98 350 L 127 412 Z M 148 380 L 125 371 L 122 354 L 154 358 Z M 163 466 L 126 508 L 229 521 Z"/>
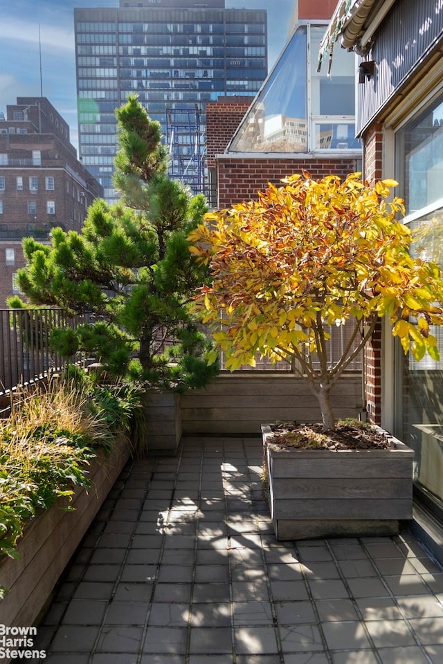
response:
<path id="1" fill-rule="evenodd" d="M 414 451 L 278 448 L 267 442 L 267 498 L 278 540 L 392 535 L 413 515 Z"/>

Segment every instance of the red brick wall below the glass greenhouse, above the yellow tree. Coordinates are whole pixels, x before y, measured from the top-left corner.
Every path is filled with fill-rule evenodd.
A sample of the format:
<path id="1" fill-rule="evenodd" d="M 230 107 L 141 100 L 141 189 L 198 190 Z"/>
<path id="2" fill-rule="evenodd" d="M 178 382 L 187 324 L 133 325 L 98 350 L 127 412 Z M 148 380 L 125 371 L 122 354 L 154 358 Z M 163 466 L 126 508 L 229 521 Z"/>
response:
<path id="1" fill-rule="evenodd" d="M 268 183 L 280 185 L 280 180 L 302 169 L 313 178 L 338 175 L 345 178 L 356 170 L 356 160 L 306 158 L 235 158 L 233 155 L 217 160 L 218 207 L 230 208 L 235 203 L 257 199 L 257 191 Z"/>

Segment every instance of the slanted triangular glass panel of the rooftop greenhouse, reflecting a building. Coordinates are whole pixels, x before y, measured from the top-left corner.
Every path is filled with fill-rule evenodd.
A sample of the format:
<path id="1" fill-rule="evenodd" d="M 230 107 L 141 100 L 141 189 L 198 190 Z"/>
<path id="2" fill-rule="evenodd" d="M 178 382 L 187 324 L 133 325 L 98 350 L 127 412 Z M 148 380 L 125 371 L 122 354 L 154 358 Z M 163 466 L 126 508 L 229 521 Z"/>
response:
<path id="1" fill-rule="evenodd" d="M 300 26 L 230 143 L 230 152 L 307 152 L 307 35 Z"/>

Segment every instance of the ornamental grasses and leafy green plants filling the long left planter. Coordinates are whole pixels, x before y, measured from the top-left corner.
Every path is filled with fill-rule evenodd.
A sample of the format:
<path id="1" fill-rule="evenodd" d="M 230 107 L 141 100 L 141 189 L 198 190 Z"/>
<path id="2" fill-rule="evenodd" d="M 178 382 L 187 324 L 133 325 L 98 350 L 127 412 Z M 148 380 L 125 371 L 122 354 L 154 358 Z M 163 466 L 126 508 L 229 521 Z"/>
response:
<path id="1" fill-rule="evenodd" d="M 69 501 L 89 486 L 96 448 L 109 451 L 139 426 L 141 388 L 100 387 L 78 367 L 48 389 L 21 391 L 0 427 L 0 553 L 17 557 L 17 540 L 37 508 Z"/>

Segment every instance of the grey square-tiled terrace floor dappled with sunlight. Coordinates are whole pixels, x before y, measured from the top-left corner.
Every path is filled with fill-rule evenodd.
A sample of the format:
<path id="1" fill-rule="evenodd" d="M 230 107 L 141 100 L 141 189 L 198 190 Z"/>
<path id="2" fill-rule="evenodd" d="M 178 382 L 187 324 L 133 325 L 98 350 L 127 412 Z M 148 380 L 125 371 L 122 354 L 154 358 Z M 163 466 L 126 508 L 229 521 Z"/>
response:
<path id="1" fill-rule="evenodd" d="M 261 440 L 129 463 L 38 629 L 48 664 L 438 664 L 443 571 L 399 537 L 276 542 Z"/>

